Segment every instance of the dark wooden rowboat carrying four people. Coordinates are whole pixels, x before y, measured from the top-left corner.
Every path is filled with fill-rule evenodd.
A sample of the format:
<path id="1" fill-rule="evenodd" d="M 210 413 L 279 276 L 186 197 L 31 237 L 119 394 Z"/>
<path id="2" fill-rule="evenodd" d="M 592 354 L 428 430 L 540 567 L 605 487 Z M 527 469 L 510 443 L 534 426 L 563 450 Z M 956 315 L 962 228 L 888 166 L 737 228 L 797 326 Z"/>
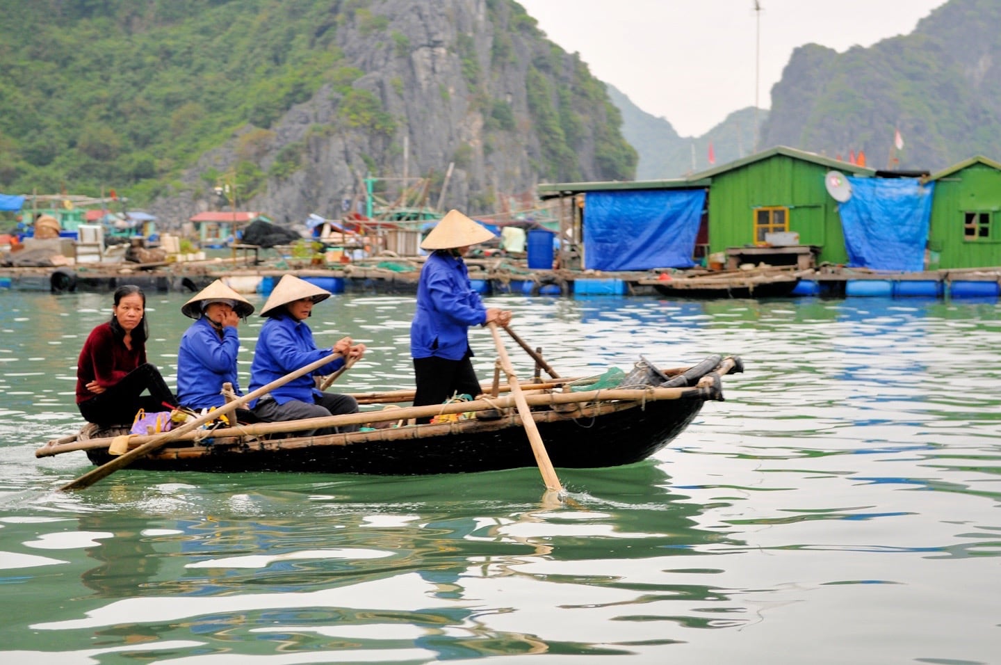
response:
<path id="1" fill-rule="evenodd" d="M 638 462 L 667 446 L 705 402 L 723 401 L 722 377 L 738 372 L 743 372 L 743 364 L 737 357 L 711 356 L 697 366 L 663 372 L 641 360 L 617 386 L 596 388 L 600 378 L 537 380 L 520 386 L 553 465 L 600 468 Z M 378 475 L 535 467 L 510 387 L 494 382 L 484 391 L 472 402 L 405 408 L 397 405 L 410 401 L 412 392 L 355 395 L 362 409 L 358 414 L 195 430 L 130 466 L 170 472 Z M 429 416 L 439 422 L 408 424 Z M 346 434 L 302 435 L 345 425 L 367 427 Z M 48 442 L 35 456 L 82 450 L 100 466 L 112 459 L 108 447 L 114 437 L 126 434 L 127 426 L 87 425 L 75 438 Z M 128 448 L 152 438 L 132 436 Z"/>

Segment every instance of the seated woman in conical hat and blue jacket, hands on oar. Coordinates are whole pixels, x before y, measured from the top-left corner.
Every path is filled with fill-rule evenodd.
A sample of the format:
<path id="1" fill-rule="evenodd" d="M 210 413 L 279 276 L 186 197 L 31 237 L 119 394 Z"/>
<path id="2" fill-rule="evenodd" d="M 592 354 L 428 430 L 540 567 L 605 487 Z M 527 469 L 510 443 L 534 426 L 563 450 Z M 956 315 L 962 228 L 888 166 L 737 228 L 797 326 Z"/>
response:
<path id="1" fill-rule="evenodd" d="M 328 297 L 330 291 L 291 274 L 283 275 L 268 296 L 260 310 L 260 315 L 267 316 L 267 320 L 260 328 L 250 365 L 251 392 L 334 352 L 341 354 L 341 358 L 313 371 L 311 375 L 274 389 L 259 400 L 251 401 L 250 409 L 258 419 L 268 422 L 295 421 L 357 413 L 358 403 L 351 396 L 327 394 L 316 388 L 314 377 L 336 372 L 344 366 L 345 359 L 359 359 L 365 353 L 364 345 L 352 345 L 348 337 L 341 338 L 333 347 L 316 347 L 305 319 L 311 315 L 313 304 Z M 357 429 L 356 425 L 323 428 L 312 434 L 354 432 Z M 305 432 L 302 436 L 309 434 Z"/>

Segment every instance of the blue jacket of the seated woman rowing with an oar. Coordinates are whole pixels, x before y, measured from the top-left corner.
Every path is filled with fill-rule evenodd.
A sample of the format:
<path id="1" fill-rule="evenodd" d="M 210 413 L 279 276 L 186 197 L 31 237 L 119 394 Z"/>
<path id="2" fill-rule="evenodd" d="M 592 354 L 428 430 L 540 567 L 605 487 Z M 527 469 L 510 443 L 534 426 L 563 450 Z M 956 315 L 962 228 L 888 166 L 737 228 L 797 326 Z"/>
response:
<path id="1" fill-rule="evenodd" d="M 312 330 L 304 321 L 297 321 L 286 312 L 272 316 L 264 321 L 254 349 L 253 363 L 250 364 L 250 392 L 256 391 L 272 381 L 281 379 L 310 363 L 329 356 L 333 349 L 316 349 L 312 339 Z M 313 377 L 336 372 L 344 365 L 344 359 L 338 358 L 327 363 L 311 374 L 292 380 L 271 391 L 271 397 L 279 405 L 298 400 L 313 404 L 313 395 L 322 395 L 316 390 Z M 247 405 L 253 409 L 257 400 L 251 400 Z"/>

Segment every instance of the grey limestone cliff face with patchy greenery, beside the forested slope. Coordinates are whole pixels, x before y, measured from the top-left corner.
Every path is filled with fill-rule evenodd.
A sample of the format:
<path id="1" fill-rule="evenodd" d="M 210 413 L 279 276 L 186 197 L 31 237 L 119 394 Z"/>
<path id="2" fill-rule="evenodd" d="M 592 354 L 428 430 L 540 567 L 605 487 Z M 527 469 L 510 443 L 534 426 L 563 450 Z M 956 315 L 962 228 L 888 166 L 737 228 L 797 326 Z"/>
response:
<path id="1" fill-rule="evenodd" d="M 204 154 L 155 212 L 184 219 L 218 207 L 199 186 L 203 173 L 239 173 L 247 162 L 267 175 L 249 197 L 238 185 L 236 206 L 278 221 L 340 216 L 345 201 L 357 204 L 366 174 L 385 178 L 376 190 L 386 200 L 397 198 L 404 173 L 429 177 L 427 203 L 471 214 L 511 207 L 513 195 L 541 179 L 633 177 L 636 153 L 604 87 L 519 5 L 345 2 L 331 5 L 330 19 L 340 71 L 353 68 L 356 77 L 324 85 L 269 127 L 241 128 Z"/>

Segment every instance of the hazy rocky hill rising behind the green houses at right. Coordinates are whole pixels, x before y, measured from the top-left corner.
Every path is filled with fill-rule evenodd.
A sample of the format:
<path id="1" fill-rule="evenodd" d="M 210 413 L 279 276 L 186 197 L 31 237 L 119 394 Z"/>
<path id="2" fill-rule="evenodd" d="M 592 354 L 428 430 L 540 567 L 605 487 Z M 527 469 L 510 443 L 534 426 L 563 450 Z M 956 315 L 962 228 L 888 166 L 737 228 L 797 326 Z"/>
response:
<path id="1" fill-rule="evenodd" d="M 796 49 L 772 89 L 765 147 L 878 168 L 938 170 L 1001 156 L 1001 4 L 950 0 L 909 35 L 844 53 Z M 893 146 L 900 130 L 903 150 Z"/>

